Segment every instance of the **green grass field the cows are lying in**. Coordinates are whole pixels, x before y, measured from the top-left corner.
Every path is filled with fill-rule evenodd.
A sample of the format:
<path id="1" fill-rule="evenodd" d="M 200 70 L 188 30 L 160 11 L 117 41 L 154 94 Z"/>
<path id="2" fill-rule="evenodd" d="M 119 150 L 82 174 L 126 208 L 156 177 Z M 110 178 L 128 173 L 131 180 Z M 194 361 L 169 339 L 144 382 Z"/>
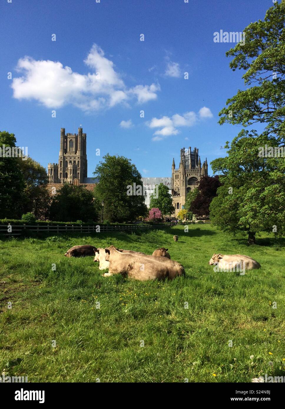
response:
<path id="1" fill-rule="evenodd" d="M 265 235 L 257 243 L 247 247 L 210 225 L 190 225 L 188 233 L 176 226 L 2 240 L 0 369 L 29 382 L 251 382 L 265 373 L 285 375 L 285 245 Z M 63 256 L 78 244 L 148 254 L 163 246 L 186 277 L 104 278 L 92 257 Z M 208 265 L 214 252 L 247 254 L 262 267 L 245 275 L 214 272 Z M 20 364 L 7 364 L 17 358 Z"/>

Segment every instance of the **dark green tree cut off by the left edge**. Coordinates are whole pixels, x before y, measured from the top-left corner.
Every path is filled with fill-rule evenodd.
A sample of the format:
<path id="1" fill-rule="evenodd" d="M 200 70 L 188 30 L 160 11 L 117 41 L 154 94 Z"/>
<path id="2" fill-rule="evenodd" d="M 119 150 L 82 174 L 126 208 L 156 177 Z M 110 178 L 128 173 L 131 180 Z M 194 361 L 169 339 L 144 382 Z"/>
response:
<path id="1" fill-rule="evenodd" d="M 0 148 L 16 147 L 14 133 L 0 132 Z M 23 203 L 24 178 L 18 157 L 0 156 L 0 218 L 20 218 Z"/>

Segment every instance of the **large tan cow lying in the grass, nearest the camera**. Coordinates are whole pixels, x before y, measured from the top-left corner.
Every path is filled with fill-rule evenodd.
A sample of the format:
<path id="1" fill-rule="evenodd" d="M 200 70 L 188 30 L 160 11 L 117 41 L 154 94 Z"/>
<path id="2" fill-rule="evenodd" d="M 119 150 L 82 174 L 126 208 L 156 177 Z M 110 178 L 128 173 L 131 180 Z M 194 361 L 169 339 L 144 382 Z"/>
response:
<path id="1" fill-rule="evenodd" d="M 128 254 L 119 252 L 115 247 L 105 249 L 106 261 L 109 261 L 109 277 L 113 274 L 123 274 L 139 281 L 174 279 L 185 275 L 183 265 L 167 257 L 154 257 L 147 254 Z"/>

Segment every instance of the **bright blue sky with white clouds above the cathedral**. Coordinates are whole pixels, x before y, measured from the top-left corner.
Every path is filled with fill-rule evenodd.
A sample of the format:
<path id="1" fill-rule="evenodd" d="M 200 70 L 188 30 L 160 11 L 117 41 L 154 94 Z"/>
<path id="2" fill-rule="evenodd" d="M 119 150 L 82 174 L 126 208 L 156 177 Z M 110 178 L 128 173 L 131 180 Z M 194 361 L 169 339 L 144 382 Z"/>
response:
<path id="1" fill-rule="evenodd" d="M 225 56 L 234 44 L 214 43 L 213 33 L 243 31 L 272 5 L 1 0 L 0 129 L 47 167 L 58 162 L 60 128 L 81 125 L 89 177 L 106 153 L 130 158 L 145 177 L 171 176 L 183 146 L 210 163 L 240 130 L 219 126 L 218 112 L 244 89 Z"/>

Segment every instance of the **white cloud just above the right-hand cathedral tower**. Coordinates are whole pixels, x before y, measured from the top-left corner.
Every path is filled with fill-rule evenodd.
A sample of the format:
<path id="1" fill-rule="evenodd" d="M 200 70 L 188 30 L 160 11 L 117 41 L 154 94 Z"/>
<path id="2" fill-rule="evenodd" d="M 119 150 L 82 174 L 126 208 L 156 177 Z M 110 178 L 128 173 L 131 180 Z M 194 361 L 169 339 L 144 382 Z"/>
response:
<path id="1" fill-rule="evenodd" d="M 177 128 L 186 126 L 190 127 L 198 122 L 199 118 L 210 118 L 212 115 L 209 108 L 203 107 L 199 110 L 199 117 L 193 111 L 185 112 L 185 114 L 175 114 L 172 117 L 164 116 L 162 118 L 152 118 L 151 121 L 147 122 L 149 128 L 161 128 L 155 131 L 152 138 L 153 141 L 161 141 L 163 137 L 170 135 L 177 135 L 181 131 Z M 185 138 L 188 140 L 188 138 Z"/>

